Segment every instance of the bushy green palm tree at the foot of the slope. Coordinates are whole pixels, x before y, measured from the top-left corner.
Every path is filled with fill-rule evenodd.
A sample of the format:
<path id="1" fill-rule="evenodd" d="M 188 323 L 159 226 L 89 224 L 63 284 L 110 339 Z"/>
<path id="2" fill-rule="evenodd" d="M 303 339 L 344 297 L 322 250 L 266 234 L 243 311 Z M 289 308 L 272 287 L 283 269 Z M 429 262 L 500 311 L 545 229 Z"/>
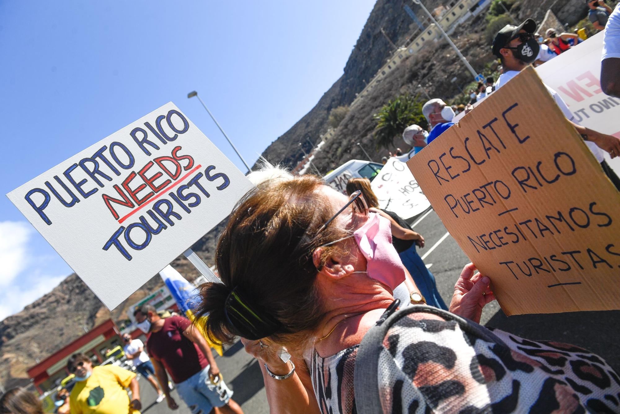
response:
<path id="1" fill-rule="evenodd" d="M 422 103 L 417 101 L 418 96 L 410 96 L 408 93 L 397 96 L 387 102 L 378 112 L 373 115 L 377 125 L 374 128 L 376 149 L 389 149 L 394 145 L 394 138 L 400 137 L 405 128 L 417 124 L 422 128 L 428 126 L 428 122 L 422 115 Z"/>

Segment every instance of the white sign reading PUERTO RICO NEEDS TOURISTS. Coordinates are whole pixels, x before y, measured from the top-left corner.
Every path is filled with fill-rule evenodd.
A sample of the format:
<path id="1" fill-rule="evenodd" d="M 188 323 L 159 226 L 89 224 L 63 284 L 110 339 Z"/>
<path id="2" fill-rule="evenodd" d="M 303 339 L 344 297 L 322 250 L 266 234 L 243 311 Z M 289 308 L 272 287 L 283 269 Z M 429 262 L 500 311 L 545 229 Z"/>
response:
<path id="1" fill-rule="evenodd" d="M 7 196 L 112 309 L 250 188 L 169 102 Z"/>

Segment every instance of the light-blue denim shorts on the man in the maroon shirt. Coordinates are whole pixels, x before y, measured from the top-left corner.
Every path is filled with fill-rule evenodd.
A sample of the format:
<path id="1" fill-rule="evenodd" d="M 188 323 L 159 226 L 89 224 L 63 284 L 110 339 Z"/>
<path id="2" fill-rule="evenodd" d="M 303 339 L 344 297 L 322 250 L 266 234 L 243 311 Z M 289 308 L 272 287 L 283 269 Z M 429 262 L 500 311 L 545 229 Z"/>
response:
<path id="1" fill-rule="evenodd" d="M 177 392 L 190 408 L 192 414 L 209 414 L 213 407 L 222 407 L 228 403 L 230 394 L 225 398 L 219 396 L 215 385 L 209 380 L 209 367 L 180 382 Z"/>

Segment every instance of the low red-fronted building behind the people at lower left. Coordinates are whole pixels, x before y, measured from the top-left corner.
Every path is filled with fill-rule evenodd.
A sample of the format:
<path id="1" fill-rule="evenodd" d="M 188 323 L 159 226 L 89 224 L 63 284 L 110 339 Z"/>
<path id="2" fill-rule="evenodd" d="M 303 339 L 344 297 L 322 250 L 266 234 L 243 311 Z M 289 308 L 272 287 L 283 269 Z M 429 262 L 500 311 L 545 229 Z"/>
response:
<path id="1" fill-rule="evenodd" d="M 38 392 L 43 394 L 47 390 L 58 387 L 61 380 L 69 376 L 66 368 L 67 360 L 74 353 L 87 354 L 97 365 L 104 362 L 108 349 L 123 345 L 118 334 L 117 326 L 112 319 L 108 319 L 31 367 L 28 370 L 28 376 Z"/>

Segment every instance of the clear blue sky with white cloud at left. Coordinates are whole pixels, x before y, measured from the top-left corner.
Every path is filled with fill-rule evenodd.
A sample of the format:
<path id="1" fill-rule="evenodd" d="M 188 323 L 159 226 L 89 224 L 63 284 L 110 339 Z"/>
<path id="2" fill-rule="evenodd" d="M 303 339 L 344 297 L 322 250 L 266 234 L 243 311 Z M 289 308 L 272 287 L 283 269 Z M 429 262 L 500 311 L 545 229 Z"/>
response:
<path id="1" fill-rule="evenodd" d="M 166 102 L 240 169 L 342 74 L 374 0 L 0 1 L 1 192 Z M 71 273 L 0 197 L 0 320 Z"/>

